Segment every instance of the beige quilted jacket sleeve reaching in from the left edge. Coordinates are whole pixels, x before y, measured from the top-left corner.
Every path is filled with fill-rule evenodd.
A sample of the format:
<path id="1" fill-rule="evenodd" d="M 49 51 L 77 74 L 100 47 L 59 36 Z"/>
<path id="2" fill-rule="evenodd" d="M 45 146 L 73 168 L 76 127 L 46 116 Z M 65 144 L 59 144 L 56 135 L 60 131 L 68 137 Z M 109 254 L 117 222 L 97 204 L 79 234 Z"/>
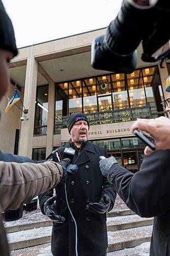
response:
<path id="1" fill-rule="evenodd" d="M 0 161 L 0 211 L 17 209 L 62 179 L 61 165 L 44 163 L 15 163 Z"/>

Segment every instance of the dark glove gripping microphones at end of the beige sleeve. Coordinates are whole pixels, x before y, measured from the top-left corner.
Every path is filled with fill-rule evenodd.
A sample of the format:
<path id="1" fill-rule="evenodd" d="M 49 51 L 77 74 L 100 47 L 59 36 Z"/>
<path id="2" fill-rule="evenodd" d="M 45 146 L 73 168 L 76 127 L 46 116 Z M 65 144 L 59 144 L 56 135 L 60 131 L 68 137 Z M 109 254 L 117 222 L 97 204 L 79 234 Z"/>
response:
<path id="1" fill-rule="evenodd" d="M 67 174 L 73 175 L 73 174 L 77 173 L 77 171 L 78 171 L 77 164 L 69 164 L 69 162 L 70 162 L 69 158 L 65 158 L 65 159 L 61 160 L 60 162 L 58 162 L 58 164 L 61 165 L 61 167 L 63 168 L 63 171 L 64 171 L 64 175 L 63 175 L 63 178 L 62 178 L 60 184 L 66 182 Z"/>

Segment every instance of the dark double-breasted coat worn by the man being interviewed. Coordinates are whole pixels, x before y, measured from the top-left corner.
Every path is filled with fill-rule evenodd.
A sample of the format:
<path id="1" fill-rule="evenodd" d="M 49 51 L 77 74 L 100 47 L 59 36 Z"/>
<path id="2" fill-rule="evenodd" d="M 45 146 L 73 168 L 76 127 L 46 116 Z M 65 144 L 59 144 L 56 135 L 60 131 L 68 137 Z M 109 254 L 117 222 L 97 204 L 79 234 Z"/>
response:
<path id="1" fill-rule="evenodd" d="M 65 147 L 70 147 L 67 142 Z M 101 256 L 107 250 L 106 214 L 94 214 L 86 210 L 90 202 L 99 202 L 101 195 L 106 194 L 114 205 L 116 197 L 113 187 L 103 178 L 99 167 L 99 156 L 106 156 L 104 148 L 87 141 L 80 155 L 74 159 L 78 165 L 78 173 L 69 176 L 66 182 L 68 204 L 77 223 L 78 255 Z M 64 216 L 64 224 L 53 223 L 52 253 L 55 256 L 75 256 L 76 229 L 66 205 L 64 184 L 56 187 L 56 210 Z M 39 196 L 40 207 L 53 196 L 53 190 L 48 190 Z M 44 214 L 44 212 L 43 212 Z"/>

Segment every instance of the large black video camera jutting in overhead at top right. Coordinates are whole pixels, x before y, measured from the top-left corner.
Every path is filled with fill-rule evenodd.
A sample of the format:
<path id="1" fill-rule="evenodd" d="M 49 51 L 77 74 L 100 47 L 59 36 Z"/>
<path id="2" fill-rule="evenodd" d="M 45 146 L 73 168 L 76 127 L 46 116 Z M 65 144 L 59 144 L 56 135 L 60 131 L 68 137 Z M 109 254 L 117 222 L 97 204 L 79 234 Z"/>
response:
<path id="1" fill-rule="evenodd" d="M 150 2 L 154 4 L 150 4 Z M 106 34 L 95 38 L 91 45 L 91 65 L 94 69 L 132 73 L 137 64 L 137 50 L 142 41 L 141 59 L 156 62 L 170 58 L 170 48 L 158 56 L 153 54 L 170 38 L 169 1 L 124 0 Z M 136 4 L 140 3 L 140 4 Z M 152 18 L 151 18 L 152 17 Z M 162 67 L 162 66 L 161 66 Z"/>

